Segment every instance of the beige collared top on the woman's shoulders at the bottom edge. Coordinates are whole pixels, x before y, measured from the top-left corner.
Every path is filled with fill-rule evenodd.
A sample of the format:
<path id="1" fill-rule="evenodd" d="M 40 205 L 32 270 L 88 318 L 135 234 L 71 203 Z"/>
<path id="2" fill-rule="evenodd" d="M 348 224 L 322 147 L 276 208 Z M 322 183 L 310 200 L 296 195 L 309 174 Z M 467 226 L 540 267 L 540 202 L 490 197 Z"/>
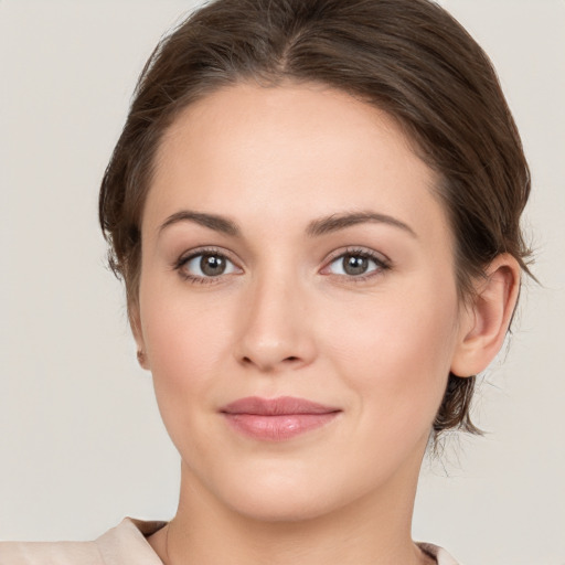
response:
<path id="1" fill-rule="evenodd" d="M 94 542 L 1 542 L 0 565 L 163 565 L 146 536 L 166 524 L 126 518 Z M 438 565 L 457 565 L 441 547 L 419 546 Z"/>

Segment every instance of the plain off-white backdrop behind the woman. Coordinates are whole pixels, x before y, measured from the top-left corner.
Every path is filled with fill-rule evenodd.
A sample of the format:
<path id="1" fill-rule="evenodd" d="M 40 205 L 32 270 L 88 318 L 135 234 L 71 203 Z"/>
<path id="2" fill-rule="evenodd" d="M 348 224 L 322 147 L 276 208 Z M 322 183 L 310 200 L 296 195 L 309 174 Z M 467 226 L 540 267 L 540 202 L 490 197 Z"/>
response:
<path id="1" fill-rule="evenodd" d="M 0 539 L 93 539 L 174 513 L 178 456 L 96 214 L 137 75 L 195 3 L 0 0 Z M 565 2 L 443 4 L 491 55 L 521 130 L 543 286 L 526 284 L 481 380 L 489 434 L 425 462 L 414 537 L 466 565 L 563 565 Z"/>

